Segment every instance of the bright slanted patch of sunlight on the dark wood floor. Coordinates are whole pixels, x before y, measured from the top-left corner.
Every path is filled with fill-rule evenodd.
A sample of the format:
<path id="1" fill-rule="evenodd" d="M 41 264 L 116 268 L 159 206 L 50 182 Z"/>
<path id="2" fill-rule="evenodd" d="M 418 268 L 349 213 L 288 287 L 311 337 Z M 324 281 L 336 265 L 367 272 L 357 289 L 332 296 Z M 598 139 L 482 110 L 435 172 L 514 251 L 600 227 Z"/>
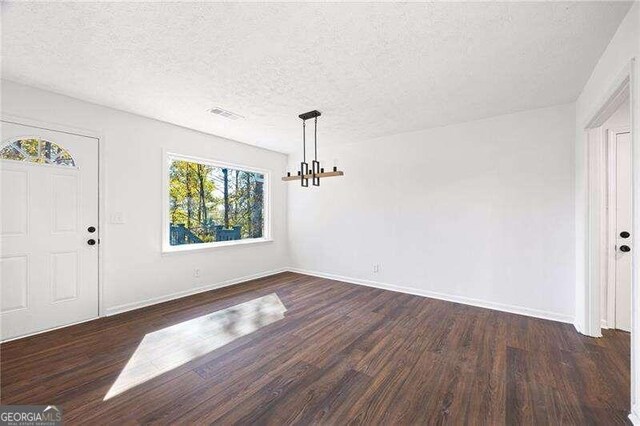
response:
<path id="1" fill-rule="evenodd" d="M 149 333 L 103 400 L 281 320 L 286 311 L 278 295 L 271 293 Z"/>

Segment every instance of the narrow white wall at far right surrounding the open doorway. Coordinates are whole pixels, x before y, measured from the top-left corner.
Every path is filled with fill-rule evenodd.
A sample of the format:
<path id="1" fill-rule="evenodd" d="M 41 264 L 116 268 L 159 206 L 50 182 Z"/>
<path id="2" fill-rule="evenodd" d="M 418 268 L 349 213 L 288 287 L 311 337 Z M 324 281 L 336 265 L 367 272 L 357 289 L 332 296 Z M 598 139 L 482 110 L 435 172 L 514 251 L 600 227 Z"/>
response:
<path id="1" fill-rule="evenodd" d="M 633 110 L 633 158 L 634 164 L 640 164 L 640 3 L 636 2 L 620 24 L 616 34 L 611 39 L 609 46 L 598 61 L 589 81 L 585 85 L 576 102 L 576 325 L 583 330 L 587 326 L 587 294 L 585 281 L 587 274 L 587 247 L 586 247 L 586 135 L 584 132 L 588 121 L 597 112 L 597 109 L 606 101 L 610 90 L 620 76 L 623 69 L 635 58 L 634 80 L 632 87 Z M 640 247 L 640 167 L 634 166 L 634 247 Z M 640 311 L 640 295 L 637 293 L 638 279 L 640 277 L 640 262 L 634 263 L 634 288 L 633 303 L 635 312 Z M 640 424 L 640 318 L 635 315 L 632 325 L 632 401 L 631 410 L 635 416 L 636 424 Z"/>

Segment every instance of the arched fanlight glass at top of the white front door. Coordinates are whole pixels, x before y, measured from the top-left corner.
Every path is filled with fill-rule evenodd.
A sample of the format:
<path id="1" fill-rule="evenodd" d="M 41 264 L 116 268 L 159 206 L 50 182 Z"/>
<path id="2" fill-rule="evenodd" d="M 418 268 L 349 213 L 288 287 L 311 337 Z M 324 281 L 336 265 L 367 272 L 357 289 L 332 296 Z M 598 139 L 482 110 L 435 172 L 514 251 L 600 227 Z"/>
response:
<path id="1" fill-rule="evenodd" d="M 0 149 L 0 159 L 66 167 L 76 166 L 69 151 L 53 142 L 36 138 L 18 139 L 3 146 Z"/>

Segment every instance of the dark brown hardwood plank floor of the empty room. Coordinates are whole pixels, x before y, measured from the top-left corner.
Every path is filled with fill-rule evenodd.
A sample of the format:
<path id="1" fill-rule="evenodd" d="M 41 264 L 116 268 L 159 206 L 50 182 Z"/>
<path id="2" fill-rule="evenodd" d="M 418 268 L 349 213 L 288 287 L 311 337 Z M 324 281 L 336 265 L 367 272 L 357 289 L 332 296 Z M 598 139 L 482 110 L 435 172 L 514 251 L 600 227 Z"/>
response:
<path id="1" fill-rule="evenodd" d="M 243 320 L 273 293 L 284 318 L 271 296 Z M 221 310 L 240 325 L 176 326 Z M 191 331 L 218 343 L 189 352 Z M 59 404 L 68 424 L 628 424 L 629 345 L 282 273 L 2 344 L 0 399 Z M 141 352 L 155 373 L 133 368 Z M 105 400 L 127 369 L 135 386 Z"/>

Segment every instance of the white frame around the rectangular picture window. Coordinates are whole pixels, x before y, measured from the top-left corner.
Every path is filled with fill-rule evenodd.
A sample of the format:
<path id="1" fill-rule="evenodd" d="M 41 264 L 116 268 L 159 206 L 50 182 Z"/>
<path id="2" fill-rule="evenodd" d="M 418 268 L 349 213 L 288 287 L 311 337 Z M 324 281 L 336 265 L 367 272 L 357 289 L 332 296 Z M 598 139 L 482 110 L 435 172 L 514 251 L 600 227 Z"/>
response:
<path id="1" fill-rule="evenodd" d="M 208 166 L 219 167 L 219 168 L 228 168 L 234 170 L 247 171 L 252 173 L 260 173 L 264 176 L 264 185 L 263 185 L 263 202 L 264 202 L 264 211 L 263 211 L 263 232 L 261 238 L 245 238 L 241 240 L 233 240 L 233 241 L 217 241 L 210 243 L 200 243 L 200 244 L 180 244 L 177 246 L 172 246 L 170 244 L 170 236 L 169 236 L 169 218 L 170 214 L 170 203 L 169 203 L 169 165 L 171 161 L 181 160 L 181 161 L 189 161 L 192 163 L 200 163 L 206 164 Z M 221 247 L 233 247 L 233 246 L 244 246 L 244 245 L 252 245 L 252 244 L 260 244 L 266 242 L 272 242 L 271 239 L 271 171 L 265 169 L 259 169 L 256 167 L 245 166 L 242 164 L 232 164 L 219 160 L 212 160 L 202 157 L 195 157 L 191 155 L 185 154 L 177 154 L 173 152 L 163 152 L 162 155 L 162 252 L 163 253 L 176 253 L 176 252 L 189 252 L 189 251 L 198 251 L 198 250 L 209 250 L 214 248 Z"/>

